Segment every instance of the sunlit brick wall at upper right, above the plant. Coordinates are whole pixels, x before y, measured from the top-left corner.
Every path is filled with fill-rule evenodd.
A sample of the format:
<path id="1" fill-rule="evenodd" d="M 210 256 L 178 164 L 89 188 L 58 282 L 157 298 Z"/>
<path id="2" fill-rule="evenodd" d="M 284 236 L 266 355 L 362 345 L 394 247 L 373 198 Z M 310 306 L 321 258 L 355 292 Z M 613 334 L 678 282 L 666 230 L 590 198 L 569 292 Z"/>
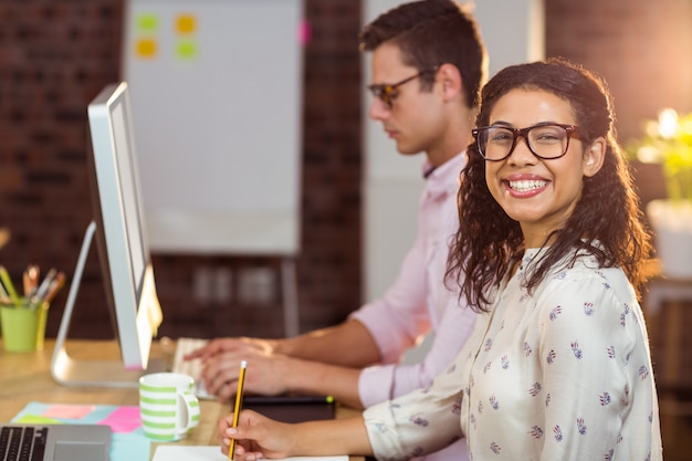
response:
<path id="1" fill-rule="evenodd" d="M 609 83 L 620 139 L 665 106 L 692 109 L 689 0 L 546 0 L 546 55 L 563 55 Z"/>

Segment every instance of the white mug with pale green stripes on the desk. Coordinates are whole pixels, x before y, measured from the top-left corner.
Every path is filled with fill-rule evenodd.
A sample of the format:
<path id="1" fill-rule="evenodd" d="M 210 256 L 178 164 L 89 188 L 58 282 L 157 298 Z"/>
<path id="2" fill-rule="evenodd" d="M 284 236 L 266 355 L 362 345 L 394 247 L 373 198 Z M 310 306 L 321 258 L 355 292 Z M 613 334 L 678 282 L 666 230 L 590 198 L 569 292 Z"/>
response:
<path id="1" fill-rule="evenodd" d="M 154 373 L 139 378 L 139 413 L 144 433 L 156 441 L 185 438 L 199 425 L 195 380 L 180 373 Z"/>

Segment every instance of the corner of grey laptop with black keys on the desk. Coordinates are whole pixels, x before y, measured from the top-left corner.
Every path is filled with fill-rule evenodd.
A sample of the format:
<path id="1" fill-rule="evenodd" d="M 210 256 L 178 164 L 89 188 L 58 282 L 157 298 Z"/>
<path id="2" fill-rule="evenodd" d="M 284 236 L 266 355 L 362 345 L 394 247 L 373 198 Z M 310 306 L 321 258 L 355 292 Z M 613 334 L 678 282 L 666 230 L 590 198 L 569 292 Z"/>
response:
<path id="1" fill-rule="evenodd" d="M 0 423 L 0 459 L 108 461 L 111 428 L 101 425 Z"/>

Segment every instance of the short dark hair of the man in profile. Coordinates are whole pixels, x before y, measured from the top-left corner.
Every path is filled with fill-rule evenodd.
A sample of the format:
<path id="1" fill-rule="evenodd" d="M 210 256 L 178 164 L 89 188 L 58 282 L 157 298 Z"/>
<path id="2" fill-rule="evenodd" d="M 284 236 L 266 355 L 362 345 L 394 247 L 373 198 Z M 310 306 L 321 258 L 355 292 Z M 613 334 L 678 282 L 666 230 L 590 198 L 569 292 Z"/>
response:
<path id="1" fill-rule="evenodd" d="M 359 42 L 360 51 L 395 43 L 403 63 L 419 72 L 454 65 L 463 81 L 466 105 L 478 106 L 481 85 L 487 78 L 487 53 L 476 22 L 463 6 L 451 0 L 403 3 L 367 24 Z M 432 88 L 433 81 L 432 73 L 421 75 L 421 90 Z"/>

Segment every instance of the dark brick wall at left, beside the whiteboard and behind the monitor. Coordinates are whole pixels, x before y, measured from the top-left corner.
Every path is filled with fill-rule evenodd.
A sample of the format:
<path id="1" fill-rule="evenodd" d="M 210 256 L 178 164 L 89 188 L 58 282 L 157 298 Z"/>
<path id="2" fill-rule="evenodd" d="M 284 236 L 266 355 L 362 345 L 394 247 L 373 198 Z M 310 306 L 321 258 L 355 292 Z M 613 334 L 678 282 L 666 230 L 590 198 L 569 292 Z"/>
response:
<path id="1" fill-rule="evenodd" d="M 12 232 L 0 256 L 15 281 L 30 262 L 69 274 L 74 268 L 91 219 L 86 104 L 117 78 L 120 15 L 117 1 L 0 3 L 0 226 Z M 107 334 L 92 266 L 81 323 Z M 49 314 L 49 334 L 65 292 Z"/>

